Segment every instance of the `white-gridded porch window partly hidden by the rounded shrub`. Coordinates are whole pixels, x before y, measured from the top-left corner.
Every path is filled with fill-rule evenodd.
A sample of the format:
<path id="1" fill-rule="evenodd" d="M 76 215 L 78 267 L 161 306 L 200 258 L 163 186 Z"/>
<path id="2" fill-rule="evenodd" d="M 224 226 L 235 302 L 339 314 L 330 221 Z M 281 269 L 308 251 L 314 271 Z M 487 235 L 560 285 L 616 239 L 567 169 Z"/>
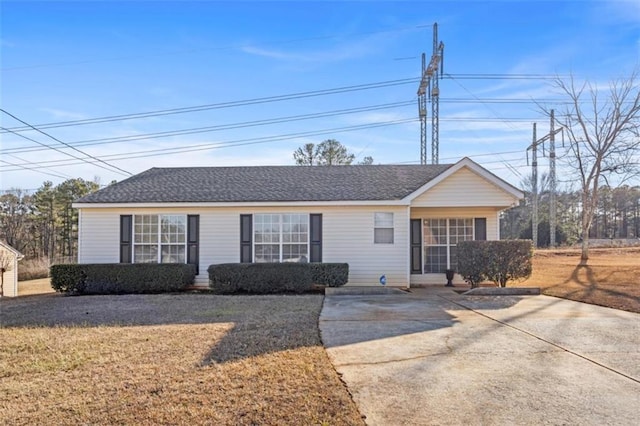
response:
<path id="1" fill-rule="evenodd" d="M 456 246 L 473 240 L 473 219 L 424 219 L 424 273 L 456 269 Z"/>

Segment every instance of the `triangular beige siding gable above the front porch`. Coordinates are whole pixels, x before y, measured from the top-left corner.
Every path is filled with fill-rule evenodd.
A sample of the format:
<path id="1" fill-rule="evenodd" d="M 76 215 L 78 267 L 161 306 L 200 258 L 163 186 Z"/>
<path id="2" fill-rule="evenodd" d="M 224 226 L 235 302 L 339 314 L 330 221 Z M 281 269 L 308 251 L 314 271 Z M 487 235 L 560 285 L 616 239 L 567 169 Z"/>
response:
<path id="1" fill-rule="evenodd" d="M 473 171 L 462 168 L 411 202 L 412 207 L 509 207 L 517 199 Z"/>

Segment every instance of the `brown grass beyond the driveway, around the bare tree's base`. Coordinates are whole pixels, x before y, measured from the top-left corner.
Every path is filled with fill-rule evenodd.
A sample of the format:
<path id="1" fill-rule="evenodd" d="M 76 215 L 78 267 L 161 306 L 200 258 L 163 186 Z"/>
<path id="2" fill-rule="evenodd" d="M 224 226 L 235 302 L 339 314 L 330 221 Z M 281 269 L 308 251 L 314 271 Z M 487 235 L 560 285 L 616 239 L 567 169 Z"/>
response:
<path id="1" fill-rule="evenodd" d="M 640 312 L 640 247 L 590 249 L 586 266 L 579 250 L 537 250 L 533 274 L 515 285 L 544 294 Z"/>

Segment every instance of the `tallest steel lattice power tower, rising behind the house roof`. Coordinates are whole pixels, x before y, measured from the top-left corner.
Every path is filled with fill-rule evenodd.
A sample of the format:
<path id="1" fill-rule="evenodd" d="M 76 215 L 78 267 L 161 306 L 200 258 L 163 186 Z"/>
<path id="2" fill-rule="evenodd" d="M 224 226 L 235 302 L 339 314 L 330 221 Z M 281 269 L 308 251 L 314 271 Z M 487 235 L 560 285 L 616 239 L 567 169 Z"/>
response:
<path id="1" fill-rule="evenodd" d="M 440 87 L 438 80 L 444 72 L 444 43 L 438 42 L 438 23 L 433 24 L 433 53 L 426 66 L 422 54 L 422 78 L 418 86 L 418 114 L 420 116 L 420 164 L 427 164 L 427 96 L 431 101 L 431 163 L 438 164 L 440 127 Z"/>

